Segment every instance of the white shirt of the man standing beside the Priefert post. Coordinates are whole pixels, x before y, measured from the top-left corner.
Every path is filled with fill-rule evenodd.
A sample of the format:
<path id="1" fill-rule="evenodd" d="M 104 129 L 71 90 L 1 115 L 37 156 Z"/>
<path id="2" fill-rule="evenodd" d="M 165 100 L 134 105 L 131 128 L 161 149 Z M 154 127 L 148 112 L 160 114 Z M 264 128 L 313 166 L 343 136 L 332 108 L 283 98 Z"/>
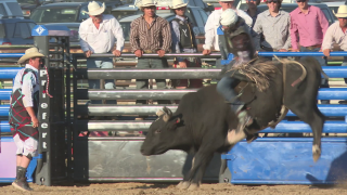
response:
<path id="1" fill-rule="evenodd" d="M 24 70 L 26 68 L 33 69 L 35 74 L 33 74 L 33 72 L 29 72 L 23 77 Z M 29 64 L 26 64 L 25 68 L 21 69 L 14 78 L 12 92 L 15 92 L 15 90 L 17 89 L 22 89 L 22 94 L 24 95 L 24 107 L 34 107 L 34 93 L 40 90 L 38 69 Z"/>

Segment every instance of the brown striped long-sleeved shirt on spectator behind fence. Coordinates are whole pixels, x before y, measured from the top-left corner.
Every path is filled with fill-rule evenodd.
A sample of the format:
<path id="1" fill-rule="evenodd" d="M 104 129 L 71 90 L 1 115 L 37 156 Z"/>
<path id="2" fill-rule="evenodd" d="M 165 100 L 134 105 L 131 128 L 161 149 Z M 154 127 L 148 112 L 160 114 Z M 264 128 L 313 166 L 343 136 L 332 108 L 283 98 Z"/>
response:
<path id="1" fill-rule="evenodd" d="M 143 16 L 130 24 L 131 52 L 137 50 L 164 50 L 168 52 L 171 47 L 171 31 L 169 23 L 155 16 L 149 24 Z"/>

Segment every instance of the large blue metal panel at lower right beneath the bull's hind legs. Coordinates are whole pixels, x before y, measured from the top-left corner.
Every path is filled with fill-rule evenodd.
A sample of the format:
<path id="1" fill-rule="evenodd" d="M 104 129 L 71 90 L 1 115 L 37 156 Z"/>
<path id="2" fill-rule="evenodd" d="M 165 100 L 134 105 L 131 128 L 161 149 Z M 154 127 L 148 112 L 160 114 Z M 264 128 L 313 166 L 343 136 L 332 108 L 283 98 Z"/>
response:
<path id="1" fill-rule="evenodd" d="M 228 159 L 231 183 L 332 184 L 346 181 L 347 138 L 323 138 L 322 156 L 317 162 L 312 159 L 312 139 L 271 140 L 257 139 L 250 144 L 242 141 L 222 156 Z"/>

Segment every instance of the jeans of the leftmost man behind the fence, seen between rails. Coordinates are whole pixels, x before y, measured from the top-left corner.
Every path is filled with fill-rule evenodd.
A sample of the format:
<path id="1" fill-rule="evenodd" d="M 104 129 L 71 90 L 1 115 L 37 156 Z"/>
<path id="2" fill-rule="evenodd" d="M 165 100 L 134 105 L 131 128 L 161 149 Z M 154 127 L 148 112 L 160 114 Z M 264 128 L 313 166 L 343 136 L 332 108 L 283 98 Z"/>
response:
<path id="1" fill-rule="evenodd" d="M 113 68 L 111 57 L 88 57 L 87 68 Z M 100 89 L 100 80 L 88 79 L 89 89 Z M 105 79 L 105 89 L 116 89 L 114 79 Z M 116 100 L 107 100 L 107 104 L 117 104 Z M 91 100 L 92 104 L 102 104 L 101 100 Z"/>

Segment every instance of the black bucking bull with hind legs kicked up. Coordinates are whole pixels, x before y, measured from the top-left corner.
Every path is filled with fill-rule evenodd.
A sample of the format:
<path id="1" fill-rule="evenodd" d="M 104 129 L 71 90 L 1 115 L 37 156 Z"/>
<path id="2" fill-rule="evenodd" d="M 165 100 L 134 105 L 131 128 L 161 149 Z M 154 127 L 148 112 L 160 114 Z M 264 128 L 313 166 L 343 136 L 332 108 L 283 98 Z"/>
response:
<path id="1" fill-rule="evenodd" d="M 303 68 L 291 63 L 285 68 L 285 82 L 282 75 L 283 64 L 279 64 L 277 73 L 269 75 L 270 87 L 266 91 L 260 92 L 253 83 L 244 88 L 240 99 L 247 103 L 247 113 L 254 118 L 254 123 L 245 131 L 255 133 L 268 127 L 269 122 L 275 121 L 284 101 L 287 108 L 310 125 L 313 131 L 313 159 L 317 160 L 321 154 L 324 123 L 324 116 L 317 106 L 323 72 L 312 57 L 301 58 L 299 63 L 305 66 L 307 76 L 294 87 L 292 84 L 303 75 Z M 233 129 L 239 125 L 237 117 L 217 93 L 216 86 L 185 94 L 174 114 L 164 108 L 158 116 L 150 127 L 141 153 L 149 156 L 164 154 L 169 150 L 193 152 L 195 155 L 192 168 L 178 185 L 180 188 L 197 187 L 214 153 L 228 152 L 236 143 L 231 142 L 230 136 L 235 135 Z"/>

